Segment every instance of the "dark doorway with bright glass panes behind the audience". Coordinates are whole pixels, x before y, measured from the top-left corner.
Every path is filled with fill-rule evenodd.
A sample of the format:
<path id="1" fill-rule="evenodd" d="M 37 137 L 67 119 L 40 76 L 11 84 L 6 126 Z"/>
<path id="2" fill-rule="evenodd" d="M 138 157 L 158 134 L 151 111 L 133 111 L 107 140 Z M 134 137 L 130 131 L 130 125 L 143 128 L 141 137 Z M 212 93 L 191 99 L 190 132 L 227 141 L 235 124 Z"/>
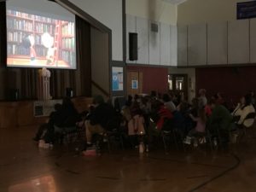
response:
<path id="1" fill-rule="evenodd" d="M 176 96 L 181 96 L 182 100 L 188 99 L 188 75 L 187 74 L 169 74 L 169 90 L 172 90 Z"/>

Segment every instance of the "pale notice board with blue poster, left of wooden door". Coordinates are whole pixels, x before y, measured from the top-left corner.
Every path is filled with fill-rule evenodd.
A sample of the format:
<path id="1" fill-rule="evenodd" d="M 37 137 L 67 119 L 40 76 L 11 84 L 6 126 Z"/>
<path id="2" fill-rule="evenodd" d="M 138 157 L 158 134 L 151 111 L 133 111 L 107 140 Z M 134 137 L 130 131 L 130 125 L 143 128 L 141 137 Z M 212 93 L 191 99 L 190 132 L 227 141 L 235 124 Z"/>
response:
<path id="1" fill-rule="evenodd" d="M 112 67 L 112 90 L 124 90 L 123 67 Z"/>

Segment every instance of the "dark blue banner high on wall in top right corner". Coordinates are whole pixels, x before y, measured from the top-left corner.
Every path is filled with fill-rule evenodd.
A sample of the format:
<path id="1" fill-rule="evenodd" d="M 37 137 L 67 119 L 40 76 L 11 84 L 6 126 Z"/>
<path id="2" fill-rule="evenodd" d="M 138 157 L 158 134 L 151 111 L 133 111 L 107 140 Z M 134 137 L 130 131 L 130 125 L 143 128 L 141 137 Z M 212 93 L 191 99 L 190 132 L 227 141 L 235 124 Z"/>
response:
<path id="1" fill-rule="evenodd" d="M 256 1 L 243 2 L 236 4 L 237 20 L 256 17 Z"/>

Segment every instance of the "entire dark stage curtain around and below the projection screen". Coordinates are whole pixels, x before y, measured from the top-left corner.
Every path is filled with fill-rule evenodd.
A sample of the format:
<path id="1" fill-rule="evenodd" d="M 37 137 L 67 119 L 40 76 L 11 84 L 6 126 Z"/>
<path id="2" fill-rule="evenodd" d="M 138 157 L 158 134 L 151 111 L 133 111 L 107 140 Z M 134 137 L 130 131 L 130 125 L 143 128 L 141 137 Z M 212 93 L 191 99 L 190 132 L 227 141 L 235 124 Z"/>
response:
<path id="1" fill-rule="evenodd" d="M 38 69 L 6 67 L 7 58 L 6 4 L 0 3 L 0 100 L 9 99 L 18 89 L 20 99 L 37 99 Z M 77 69 L 50 69 L 50 94 L 66 96 L 72 88 L 75 96 L 91 95 L 90 24 L 76 16 Z"/>

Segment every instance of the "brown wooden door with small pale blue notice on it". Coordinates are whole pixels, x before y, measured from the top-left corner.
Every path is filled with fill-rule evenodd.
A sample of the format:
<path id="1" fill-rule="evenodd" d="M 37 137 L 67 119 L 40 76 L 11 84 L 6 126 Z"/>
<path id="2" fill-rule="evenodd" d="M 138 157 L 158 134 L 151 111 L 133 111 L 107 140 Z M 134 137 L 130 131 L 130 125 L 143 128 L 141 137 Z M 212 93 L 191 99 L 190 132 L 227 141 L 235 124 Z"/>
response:
<path id="1" fill-rule="evenodd" d="M 143 73 L 127 71 L 127 95 L 139 95 L 143 93 Z"/>

